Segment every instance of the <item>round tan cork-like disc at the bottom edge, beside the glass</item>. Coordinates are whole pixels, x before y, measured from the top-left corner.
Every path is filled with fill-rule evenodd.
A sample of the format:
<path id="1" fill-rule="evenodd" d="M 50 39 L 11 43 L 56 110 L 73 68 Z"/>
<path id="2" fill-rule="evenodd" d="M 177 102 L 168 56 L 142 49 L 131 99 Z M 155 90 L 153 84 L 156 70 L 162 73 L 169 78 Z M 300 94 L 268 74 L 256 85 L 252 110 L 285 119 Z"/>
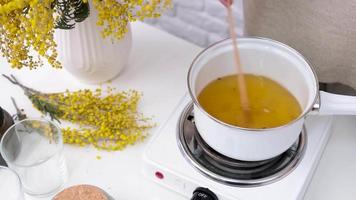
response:
<path id="1" fill-rule="evenodd" d="M 77 185 L 63 190 L 53 200 L 109 200 L 109 198 L 96 186 Z"/>

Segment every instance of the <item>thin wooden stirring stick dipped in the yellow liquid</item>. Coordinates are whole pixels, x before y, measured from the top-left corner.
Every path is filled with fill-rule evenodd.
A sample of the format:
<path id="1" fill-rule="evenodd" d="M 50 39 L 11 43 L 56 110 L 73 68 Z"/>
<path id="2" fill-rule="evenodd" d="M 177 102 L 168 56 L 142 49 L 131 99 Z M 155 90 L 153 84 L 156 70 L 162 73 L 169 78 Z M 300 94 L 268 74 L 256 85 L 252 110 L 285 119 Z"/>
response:
<path id="1" fill-rule="evenodd" d="M 248 101 L 248 96 L 247 96 L 247 89 L 246 89 L 246 82 L 245 82 L 245 77 L 243 74 L 243 69 L 241 66 L 241 60 L 240 60 L 240 53 L 237 49 L 237 34 L 235 32 L 235 20 L 234 16 L 232 14 L 232 0 L 220 0 L 227 8 L 227 20 L 229 23 L 229 29 L 230 29 L 230 36 L 232 39 L 233 43 L 233 50 L 234 50 L 234 60 L 235 60 L 235 65 L 237 68 L 237 82 L 238 82 L 238 87 L 239 87 L 239 92 L 240 92 L 240 101 L 242 105 L 242 109 L 245 111 L 245 114 L 249 110 L 249 101 Z"/>

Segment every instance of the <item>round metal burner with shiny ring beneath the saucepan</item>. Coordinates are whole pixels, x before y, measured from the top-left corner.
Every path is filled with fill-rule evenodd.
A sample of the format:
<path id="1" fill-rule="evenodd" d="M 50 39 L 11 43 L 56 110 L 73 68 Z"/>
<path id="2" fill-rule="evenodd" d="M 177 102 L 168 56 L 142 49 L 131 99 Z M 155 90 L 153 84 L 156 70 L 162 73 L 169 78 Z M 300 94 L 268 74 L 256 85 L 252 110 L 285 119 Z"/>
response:
<path id="1" fill-rule="evenodd" d="M 255 187 L 280 180 L 299 164 L 306 148 L 306 130 L 286 152 L 263 161 L 248 162 L 226 157 L 212 149 L 199 135 L 189 103 L 178 123 L 177 141 L 184 157 L 203 175 L 233 186 Z"/>

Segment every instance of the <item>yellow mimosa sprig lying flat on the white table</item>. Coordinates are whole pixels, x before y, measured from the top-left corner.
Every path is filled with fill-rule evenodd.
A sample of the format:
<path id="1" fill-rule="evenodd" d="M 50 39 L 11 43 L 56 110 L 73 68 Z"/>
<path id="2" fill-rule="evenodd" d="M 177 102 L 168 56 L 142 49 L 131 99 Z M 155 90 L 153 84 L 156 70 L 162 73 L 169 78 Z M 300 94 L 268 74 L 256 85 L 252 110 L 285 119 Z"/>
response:
<path id="1" fill-rule="evenodd" d="M 3 76 L 20 86 L 42 113 L 79 126 L 62 128 L 65 143 L 121 150 L 143 140 L 154 126 L 150 118 L 137 111 L 141 93 L 135 90 L 116 92 L 115 88 L 106 91 L 98 88 L 42 93 L 21 84 L 14 76 Z"/>

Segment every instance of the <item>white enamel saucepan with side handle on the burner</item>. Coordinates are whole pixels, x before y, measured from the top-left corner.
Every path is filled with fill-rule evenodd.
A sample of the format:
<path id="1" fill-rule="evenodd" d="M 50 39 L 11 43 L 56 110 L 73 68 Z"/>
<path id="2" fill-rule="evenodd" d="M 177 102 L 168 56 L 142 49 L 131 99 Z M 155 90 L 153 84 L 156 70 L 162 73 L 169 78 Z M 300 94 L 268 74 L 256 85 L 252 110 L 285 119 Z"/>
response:
<path id="1" fill-rule="evenodd" d="M 197 100 L 202 89 L 218 77 L 236 73 L 232 41 L 216 43 L 193 61 L 188 87 L 194 102 L 197 129 L 204 141 L 219 153 L 244 161 L 266 160 L 278 156 L 296 142 L 306 115 L 356 114 L 355 97 L 319 92 L 311 65 L 291 47 L 270 39 L 241 38 L 238 48 L 244 72 L 263 75 L 283 85 L 297 98 L 303 113 L 280 127 L 249 129 L 226 124 L 204 111 Z M 312 110 L 318 112 L 310 112 Z"/>

